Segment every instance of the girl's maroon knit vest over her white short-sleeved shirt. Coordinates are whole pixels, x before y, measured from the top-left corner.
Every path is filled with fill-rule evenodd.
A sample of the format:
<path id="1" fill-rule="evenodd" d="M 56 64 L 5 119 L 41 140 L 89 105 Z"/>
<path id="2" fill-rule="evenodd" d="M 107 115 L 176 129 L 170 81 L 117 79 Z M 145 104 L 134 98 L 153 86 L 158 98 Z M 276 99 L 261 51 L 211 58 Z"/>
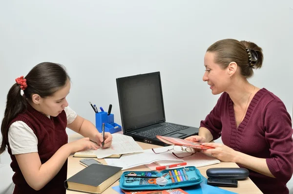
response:
<path id="1" fill-rule="evenodd" d="M 18 114 L 10 125 L 15 121 L 23 121 L 34 131 L 38 138 L 38 153 L 42 164 L 48 161 L 60 147 L 68 142 L 68 136 L 65 131 L 67 117 L 64 110 L 57 117 L 51 117 L 50 119 L 28 104 L 27 111 Z M 26 183 L 9 145 L 8 152 L 12 159 L 10 166 L 15 172 L 12 177 L 15 183 L 13 194 L 65 194 L 64 181 L 67 176 L 67 161 L 50 182 L 40 191 L 35 191 Z"/>

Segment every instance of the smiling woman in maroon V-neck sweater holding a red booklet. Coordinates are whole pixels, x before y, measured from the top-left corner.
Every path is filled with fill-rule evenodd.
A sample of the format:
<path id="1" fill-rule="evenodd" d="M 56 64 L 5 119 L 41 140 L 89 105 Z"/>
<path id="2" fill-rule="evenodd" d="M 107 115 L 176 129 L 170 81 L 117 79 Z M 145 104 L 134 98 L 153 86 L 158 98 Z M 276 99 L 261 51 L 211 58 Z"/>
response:
<path id="1" fill-rule="evenodd" d="M 247 78 L 263 62 L 255 43 L 233 39 L 213 43 L 205 55 L 203 81 L 216 106 L 201 121 L 198 136 L 187 140 L 214 147 L 205 151 L 250 171 L 250 178 L 265 194 L 288 194 L 286 183 L 293 173 L 292 122 L 283 102 Z M 224 145 L 206 143 L 222 136 Z"/>

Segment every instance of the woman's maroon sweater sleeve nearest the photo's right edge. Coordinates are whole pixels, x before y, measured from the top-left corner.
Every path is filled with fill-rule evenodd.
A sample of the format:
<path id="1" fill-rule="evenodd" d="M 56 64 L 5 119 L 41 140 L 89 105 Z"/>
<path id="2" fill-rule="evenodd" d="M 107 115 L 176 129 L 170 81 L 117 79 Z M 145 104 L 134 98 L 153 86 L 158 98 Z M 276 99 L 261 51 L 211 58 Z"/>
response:
<path id="1" fill-rule="evenodd" d="M 265 138 L 270 145 L 271 158 L 267 165 L 274 177 L 289 181 L 293 173 L 292 121 L 281 100 L 267 105 L 264 115 Z"/>

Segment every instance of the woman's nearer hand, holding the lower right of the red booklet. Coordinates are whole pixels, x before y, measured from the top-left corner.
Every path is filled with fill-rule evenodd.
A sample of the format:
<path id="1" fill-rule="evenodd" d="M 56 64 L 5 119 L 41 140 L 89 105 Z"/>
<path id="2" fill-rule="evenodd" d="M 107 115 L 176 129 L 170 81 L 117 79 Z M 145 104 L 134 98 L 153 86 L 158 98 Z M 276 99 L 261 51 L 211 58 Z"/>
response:
<path id="1" fill-rule="evenodd" d="M 209 146 L 214 149 L 204 150 L 203 152 L 211 154 L 213 157 L 223 162 L 235 162 L 236 151 L 225 146 L 224 144 L 217 143 L 203 143 L 203 146 Z"/>

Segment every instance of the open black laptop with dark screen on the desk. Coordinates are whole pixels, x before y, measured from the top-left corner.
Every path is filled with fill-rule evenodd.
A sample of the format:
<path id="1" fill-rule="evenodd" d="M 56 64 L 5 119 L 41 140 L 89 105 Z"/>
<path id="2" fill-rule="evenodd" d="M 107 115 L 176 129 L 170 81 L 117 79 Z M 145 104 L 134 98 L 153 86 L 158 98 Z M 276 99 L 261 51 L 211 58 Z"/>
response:
<path id="1" fill-rule="evenodd" d="M 198 128 L 166 122 L 160 72 L 116 79 L 123 134 L 160 146 L 156 135 L 184 139 Z"/>

